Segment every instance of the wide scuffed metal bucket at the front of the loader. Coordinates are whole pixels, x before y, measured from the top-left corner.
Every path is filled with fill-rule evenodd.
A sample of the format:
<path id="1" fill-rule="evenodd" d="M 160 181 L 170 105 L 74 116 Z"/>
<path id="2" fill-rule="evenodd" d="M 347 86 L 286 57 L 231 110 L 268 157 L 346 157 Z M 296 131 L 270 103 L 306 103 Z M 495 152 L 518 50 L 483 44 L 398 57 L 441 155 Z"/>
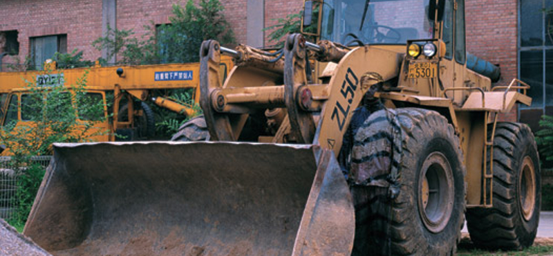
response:
<path id="1" fill-rule="evenodd" d="M 349 256 L 332 152 L 259 143 L 57 144 L 24 234 L 53 255 Z"/>

